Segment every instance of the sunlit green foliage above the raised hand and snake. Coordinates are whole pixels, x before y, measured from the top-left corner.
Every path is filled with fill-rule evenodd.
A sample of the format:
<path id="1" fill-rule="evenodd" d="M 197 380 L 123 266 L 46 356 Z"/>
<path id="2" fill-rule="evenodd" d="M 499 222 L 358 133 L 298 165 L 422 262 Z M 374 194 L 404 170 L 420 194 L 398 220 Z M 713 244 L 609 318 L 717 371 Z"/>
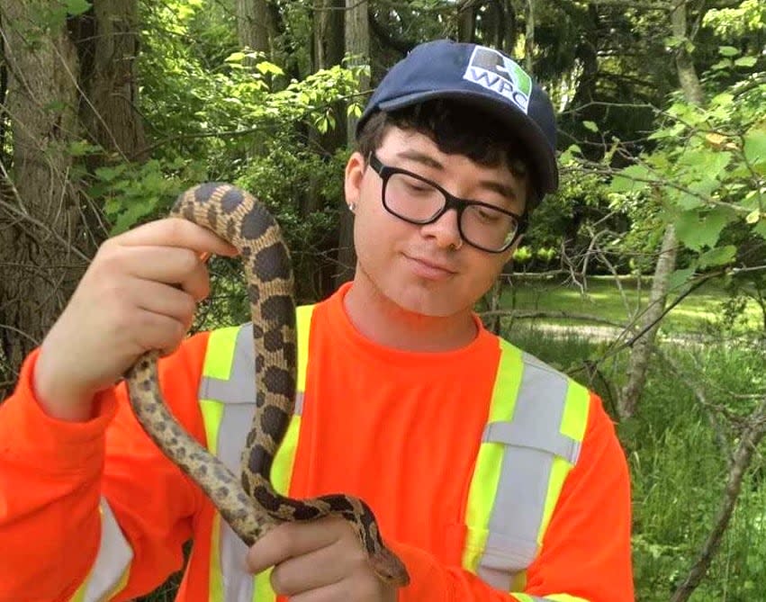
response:
<path id="1" fill-rule="evenodd" d="M 202 1 L 142 4 L 145 27 L 154 32 L 140 55 L 142 112 L 158 142 L 146 163 L 114 157 L 96 169 L 88 193 L 103 203 L 116 234 L 161 215 L 191 184 L 231 181 L 270 204 L 293 248 L 311 245 L 327 235 L 332 217 L 300 216 L 309 180 L 337 198 L 338 187 L 327 185 L 328 166 L 336 168 L 333 178 L 342 172 L 308 148 L 306 133 L 332 130 L 345 119 L 335 103 L 356 93 L 365 67 L 334 66 L 286 80 L 282 67 L 239 49 L 230 29 L 219 35 L 221 22 L 212 24 L 209 8 Z"/>

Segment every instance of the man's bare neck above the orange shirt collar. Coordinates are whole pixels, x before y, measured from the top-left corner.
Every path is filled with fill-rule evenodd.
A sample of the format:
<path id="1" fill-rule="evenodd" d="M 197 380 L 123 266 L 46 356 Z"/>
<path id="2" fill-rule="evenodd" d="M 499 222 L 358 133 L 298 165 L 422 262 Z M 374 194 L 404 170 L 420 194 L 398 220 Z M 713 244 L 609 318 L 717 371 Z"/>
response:
<path id="1" fill-rule="evenodd" d="M 403 351 L 452 351 L 471 343 L 478 332 L 471 310 L 445 317 L 405 310 L 374 286 L 358 282 L 358 272 L 344 306 L 348 319 L 364 337 Z"/>

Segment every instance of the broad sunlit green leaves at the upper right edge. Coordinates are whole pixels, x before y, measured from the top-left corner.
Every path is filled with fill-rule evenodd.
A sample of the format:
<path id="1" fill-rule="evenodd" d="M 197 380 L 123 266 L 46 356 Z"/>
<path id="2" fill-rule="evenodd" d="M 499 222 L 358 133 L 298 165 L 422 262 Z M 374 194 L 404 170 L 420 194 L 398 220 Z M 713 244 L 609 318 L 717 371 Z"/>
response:
<path id="1" fill-rule="evenodd" d="M 611 182 L 613 201 L 628 211 L 659 199 L 658 217 L 674 224 L 694 268 L 746 265 L 730 243 L 734 230 L 766 239 L 764 99 L 760 76 L 716 94 L 704 108 L 677 99 L 651 137 L 657 148 Z"/>

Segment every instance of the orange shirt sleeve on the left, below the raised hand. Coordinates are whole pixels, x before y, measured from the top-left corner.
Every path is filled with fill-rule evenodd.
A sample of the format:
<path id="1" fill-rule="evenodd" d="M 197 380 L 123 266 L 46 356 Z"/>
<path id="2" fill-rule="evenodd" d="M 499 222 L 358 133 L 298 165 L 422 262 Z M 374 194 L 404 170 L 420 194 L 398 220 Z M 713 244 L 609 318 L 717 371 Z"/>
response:
<path id="1" fill-rule="evenodd" d="M 171 411 L 200 441 L 206 343 L 206 334 L 191 337 L 159 363 Z M 143 432 L 124 384 L 100 393 L 86 422 L 45 414 L 32 388 L 38 355 L 0 404 L 0 599 L 58 602 L 85 587 L 104 547 L 105 507 L 129 562 L 112 599 L 135 598 L 182 566 L 202 493 Z"/>

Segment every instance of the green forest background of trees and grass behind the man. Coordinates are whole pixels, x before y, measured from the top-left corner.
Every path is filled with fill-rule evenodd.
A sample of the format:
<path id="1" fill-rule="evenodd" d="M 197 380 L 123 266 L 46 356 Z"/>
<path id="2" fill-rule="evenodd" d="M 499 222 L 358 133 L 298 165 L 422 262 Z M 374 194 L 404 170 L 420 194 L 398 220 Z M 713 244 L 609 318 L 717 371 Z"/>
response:
<path id="1" fill-rule="evenodd" d="M 267 203 L 299 301 L 347 280 L 349 132 L 385 70 L 443 37 L 505 49 L 554 101 L 561 191 L 477 310 L 604 398 L 637 598 L 766 600 L 757 0 L 4 0 L 0 400 L 98 245 L 192 184 Z M 248 319 L 236 263 L 212 272 L 195 328 Z"/>

